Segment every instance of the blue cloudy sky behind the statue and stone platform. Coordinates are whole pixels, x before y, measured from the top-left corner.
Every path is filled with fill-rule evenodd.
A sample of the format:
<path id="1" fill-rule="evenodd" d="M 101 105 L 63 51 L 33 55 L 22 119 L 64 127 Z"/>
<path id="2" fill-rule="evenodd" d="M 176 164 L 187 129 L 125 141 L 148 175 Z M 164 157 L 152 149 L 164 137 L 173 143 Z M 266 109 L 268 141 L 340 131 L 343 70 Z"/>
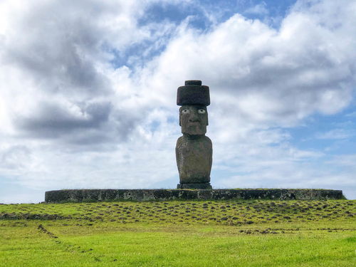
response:
<path id="1" fill-rule="evenodd" d="M 356 1 L 0 1 L 0 203 L 176 188 L 177 88 L 210 88 L 214 188 L 356 199 Z"/>

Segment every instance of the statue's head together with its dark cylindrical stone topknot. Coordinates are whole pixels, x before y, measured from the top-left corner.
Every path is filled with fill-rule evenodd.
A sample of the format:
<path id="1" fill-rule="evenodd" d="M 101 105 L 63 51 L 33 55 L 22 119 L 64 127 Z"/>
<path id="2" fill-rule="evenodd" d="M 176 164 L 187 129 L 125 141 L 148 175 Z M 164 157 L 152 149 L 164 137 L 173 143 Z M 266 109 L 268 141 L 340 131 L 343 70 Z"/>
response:
<path id="1" fill-rule="evenodd" d="M 186 80 L 177 91 L 179 125 L 187 135 L 205 135 L 208 125 L 206 106 L 210 105 L 209 87 L 201 85 L 201 80 Z"/>

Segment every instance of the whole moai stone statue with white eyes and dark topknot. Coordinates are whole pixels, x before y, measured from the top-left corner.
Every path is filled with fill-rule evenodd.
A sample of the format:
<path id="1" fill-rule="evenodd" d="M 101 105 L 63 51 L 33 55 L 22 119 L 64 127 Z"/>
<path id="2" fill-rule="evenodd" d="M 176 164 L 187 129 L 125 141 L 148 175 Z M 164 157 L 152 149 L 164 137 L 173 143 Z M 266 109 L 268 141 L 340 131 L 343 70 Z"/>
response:
<path id="1" fill-rule="evenodd" d="M 211 189 L 210 171 L 213 147 L 205 136 L 208 125 L 206 106 L 210 105 L 209 87 L 201 80 L 186 80 L 178 88 L 179 125 L 183 136 L 176 146 L 179 172 L 178 189 Z"/>

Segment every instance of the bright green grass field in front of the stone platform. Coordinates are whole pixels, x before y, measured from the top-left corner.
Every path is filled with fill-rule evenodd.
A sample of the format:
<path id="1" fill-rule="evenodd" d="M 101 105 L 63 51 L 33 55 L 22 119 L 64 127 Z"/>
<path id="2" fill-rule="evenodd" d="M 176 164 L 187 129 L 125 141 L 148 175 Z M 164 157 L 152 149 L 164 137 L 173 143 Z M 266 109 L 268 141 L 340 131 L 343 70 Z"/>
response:
<path id="1" fill-rule="evenodd" d="M 356 201 L 0 205 L 0 266 L 356 266 Z"/>

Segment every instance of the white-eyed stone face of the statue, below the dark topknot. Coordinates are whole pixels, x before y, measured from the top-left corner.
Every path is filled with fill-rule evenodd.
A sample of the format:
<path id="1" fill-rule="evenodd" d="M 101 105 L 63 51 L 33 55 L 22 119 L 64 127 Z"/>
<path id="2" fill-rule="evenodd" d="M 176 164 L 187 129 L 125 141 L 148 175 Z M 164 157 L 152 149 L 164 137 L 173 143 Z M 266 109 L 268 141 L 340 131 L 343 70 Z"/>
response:
<path id="1" fill-rule="evenodd" d="M 182 133 L 204 135 L 208 125 L 208 112 L 204 105 L 182 105 L 179 108 L 179 125 Z"/>

